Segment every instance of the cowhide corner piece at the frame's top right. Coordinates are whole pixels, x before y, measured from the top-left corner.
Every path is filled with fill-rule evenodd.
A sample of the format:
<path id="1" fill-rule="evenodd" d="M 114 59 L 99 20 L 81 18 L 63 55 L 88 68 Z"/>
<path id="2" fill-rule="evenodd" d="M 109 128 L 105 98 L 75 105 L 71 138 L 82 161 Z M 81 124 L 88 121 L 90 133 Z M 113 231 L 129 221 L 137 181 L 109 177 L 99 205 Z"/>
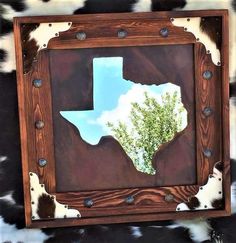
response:
<path id="1" fill-rule="evenodd" d="M 171 18 L 173 25 L 183 27 L 184 31 L 191 32 L 195 36 L 196 41 L 201 42 L 205 46 L 207 54 L 211 54 L 212 62 L 216 66 L 221 66 L 220 45 L 218 43 L 221 30 L 220 28 L 217 31 L 207 30 L 204 22 L 209 20 L 215 22 L 217 29 L 221 26 L 221 21 L 217 17 L 214 17 L 214 19 L 212 17 Z"/>

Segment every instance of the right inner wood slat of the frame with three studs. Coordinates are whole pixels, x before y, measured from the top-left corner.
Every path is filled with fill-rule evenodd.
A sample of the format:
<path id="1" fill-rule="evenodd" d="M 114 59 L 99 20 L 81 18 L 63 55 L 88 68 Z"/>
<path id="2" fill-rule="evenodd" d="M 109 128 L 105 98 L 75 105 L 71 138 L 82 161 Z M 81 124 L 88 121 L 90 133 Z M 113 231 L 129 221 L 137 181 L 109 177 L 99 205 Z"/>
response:
<path id="1" fill-rule="evenodd" d="M 209 169 L 222 160 L 222 120 L 221 120 L 221 68 L 215 66 L 211 56 L 206 54 L 205 47 L 197 43 L 195 45 L 195 81 L 196 81 L 196 135 L 197 135 L 197 160 L 198 181 L 205 184 Z M 213 76 L 207 80 L 203 77 L 204 71 L 212 72 Z M 212 110 L 210 116 L 203 111 L 209 107 Z M 204 155 L 204 150 L 212 151 L 211 157 Z"/>

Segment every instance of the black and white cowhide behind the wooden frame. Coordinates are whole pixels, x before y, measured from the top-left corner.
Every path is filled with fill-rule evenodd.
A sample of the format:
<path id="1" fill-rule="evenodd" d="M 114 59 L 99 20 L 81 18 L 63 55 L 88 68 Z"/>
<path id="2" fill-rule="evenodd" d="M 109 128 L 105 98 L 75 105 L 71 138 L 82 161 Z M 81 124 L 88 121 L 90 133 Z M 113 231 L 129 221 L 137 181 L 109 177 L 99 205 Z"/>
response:
<path id="1" fill-rule="evenodd" d="M 0 0 L 0 242 L 236 242 L 236 214 L 207 221 L 24 227 L 13 17 L 216 8 L 230 10 L 232 208 L 236 213 L 236 0 Z"/>

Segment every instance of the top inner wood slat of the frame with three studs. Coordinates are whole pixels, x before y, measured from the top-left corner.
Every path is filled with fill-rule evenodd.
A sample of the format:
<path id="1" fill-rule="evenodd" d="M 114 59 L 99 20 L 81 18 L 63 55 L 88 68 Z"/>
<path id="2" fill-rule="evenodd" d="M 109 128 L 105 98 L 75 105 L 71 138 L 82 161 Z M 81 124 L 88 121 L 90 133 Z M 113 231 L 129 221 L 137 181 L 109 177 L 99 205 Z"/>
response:
<path id="1" fill-rule="evenodd" d="M 168 38 L 160 35 L 161 28 L 168 28 Z M 117 38 L 120 29 L 125 29 L 127 37 Z M 86 39 L 79 41 L 76 39 L 76 33 L 84 31 Z M 184 44 L 194 43 L 195 38 L 191 33 L 183 31 L 181 28 L 172 25 L 170 20 L 152 21 L 152 20 L 116 20 L 100 22 L 94 25 L 94 22 L 83 24 L 72 24 L 69 31 L 61 33 L 58 38 L 53 38 L 49 42 L 51 49 L 63 48 L 95 48 L 95 47 L 120 47 L 120 46 L 150 46 L 161 44 Z"/>

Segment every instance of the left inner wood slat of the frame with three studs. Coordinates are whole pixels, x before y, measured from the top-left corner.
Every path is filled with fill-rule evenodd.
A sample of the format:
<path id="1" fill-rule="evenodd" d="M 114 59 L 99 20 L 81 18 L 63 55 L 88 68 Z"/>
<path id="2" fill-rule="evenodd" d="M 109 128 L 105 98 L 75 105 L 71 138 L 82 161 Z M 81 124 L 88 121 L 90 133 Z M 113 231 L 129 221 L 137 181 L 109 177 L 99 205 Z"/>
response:
<path id="1" fill-rule="evenodd" d="M 26 136 L 28 143 L 28 171 L 35 172 L 45 184 L 48 192 L 55 191 L 55 161 L 53 148 L 52 106 L 50 90 L 50 72 L 47 53 L 40 52 L 38 62 L 27 74 L 24 74 L 24 98 L 26 116 Z M 43 61 L 42 61 L 43 59 Z M 42 87 L 35 88 L 34 79 L 42 80 Z M 42 120 L 45 126 L 36 129 L 35 122 Z M 40 167 L 38 160 L 47 160 L 45 167 Z"/>

